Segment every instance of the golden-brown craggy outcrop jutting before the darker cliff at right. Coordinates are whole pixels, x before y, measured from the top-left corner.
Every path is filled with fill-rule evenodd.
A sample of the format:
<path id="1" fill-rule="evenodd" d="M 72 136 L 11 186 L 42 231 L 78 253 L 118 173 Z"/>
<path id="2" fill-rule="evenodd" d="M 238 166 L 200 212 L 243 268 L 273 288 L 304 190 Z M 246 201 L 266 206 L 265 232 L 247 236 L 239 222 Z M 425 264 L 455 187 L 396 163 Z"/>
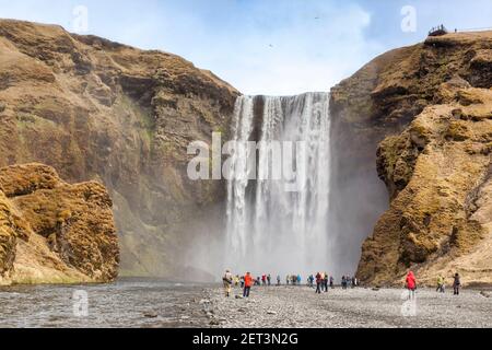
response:
<path id="1" fill-rule="evenodd" d="M 411 268 L 424 283 L 452 269 L 466 283 L 492 282 L 480 272 L 491 270 L 492 261 L 477 255 L 490 247 L 492 218 L 475 214 L 490 208 L 491 160 L 484 148 L 492 136 L 487 118 L 492 91 L 444 88 L 447 104 L 427 106 L 400 136 L 379 145 L 378 172 L 393 201 L 363 246 L 363 280 L 401 282 Z"/>

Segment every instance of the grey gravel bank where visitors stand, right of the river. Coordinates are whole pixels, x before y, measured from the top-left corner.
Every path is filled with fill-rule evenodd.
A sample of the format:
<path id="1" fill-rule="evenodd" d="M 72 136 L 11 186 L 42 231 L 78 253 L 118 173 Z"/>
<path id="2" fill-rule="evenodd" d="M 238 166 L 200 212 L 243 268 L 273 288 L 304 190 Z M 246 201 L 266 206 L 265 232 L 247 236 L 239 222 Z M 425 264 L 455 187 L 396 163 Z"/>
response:
<path id="1" fill-rule="evenodd" d="M 223 328 L 265 327 L 492 327 L 492 292 L 464 290 L 459 296 L 432 289 L 417 291 L 407 302 L 399 289 L 330 289 L 315 294 L 308 287 L 257 287 L 249 299 L 236 288 L 224 298 L 222 289 L 207 289 L 199 303 L 209 325 Z M 237 295 L 237 298 L 236 298 Z"/>

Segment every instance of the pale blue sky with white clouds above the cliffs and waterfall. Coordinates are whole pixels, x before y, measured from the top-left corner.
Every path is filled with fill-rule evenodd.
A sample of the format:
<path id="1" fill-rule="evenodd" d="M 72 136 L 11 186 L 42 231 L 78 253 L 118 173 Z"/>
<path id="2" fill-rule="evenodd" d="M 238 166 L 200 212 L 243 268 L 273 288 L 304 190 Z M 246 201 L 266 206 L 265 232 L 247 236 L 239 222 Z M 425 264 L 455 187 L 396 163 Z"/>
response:
<path id="1" fill-rule="evenodd" d="M 329 91 L 432 26 L 492 28 L 492 0 L 0 0 L 0 18 L 179 55 L 245 94 Z"/>

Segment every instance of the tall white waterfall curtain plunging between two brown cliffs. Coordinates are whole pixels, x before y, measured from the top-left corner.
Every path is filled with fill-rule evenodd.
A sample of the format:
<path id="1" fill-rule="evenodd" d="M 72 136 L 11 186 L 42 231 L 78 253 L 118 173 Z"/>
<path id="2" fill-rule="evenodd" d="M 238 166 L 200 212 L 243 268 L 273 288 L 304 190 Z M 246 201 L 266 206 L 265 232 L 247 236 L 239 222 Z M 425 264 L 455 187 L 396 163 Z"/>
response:
<path id="1" fill-rule="evenodd" d="M 227 267 L 272 276 L 333 268 L 329 94 L 241 96 L 232 135 L 243 147 L 229 162 Z"/>

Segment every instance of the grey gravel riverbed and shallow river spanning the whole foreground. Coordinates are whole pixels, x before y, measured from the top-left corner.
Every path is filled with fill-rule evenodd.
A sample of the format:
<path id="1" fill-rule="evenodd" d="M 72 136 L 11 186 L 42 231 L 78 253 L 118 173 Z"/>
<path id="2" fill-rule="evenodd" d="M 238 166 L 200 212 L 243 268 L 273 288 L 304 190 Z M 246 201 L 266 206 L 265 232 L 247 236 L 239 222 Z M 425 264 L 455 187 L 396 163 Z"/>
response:
<path id="1" fill-rule="evenodd" d="M 86 315 L 77 315 L 84 292 Z M 119 279 L 109 284 L 0 288 L 3 327 L 492 327 L 492 290 L 453 296 L 417 292 L 415 316 L 402 290 L 336 288 L 316 295 L 307 287 L 255 287 L 249 299 L 224 298 L 218 284 Z M 403 299 L 402 299 L 403 296 Z M 411 306 L 411 305 L 410 305 Z M 407 315 L 407 316 L 406 316 Z"/>

